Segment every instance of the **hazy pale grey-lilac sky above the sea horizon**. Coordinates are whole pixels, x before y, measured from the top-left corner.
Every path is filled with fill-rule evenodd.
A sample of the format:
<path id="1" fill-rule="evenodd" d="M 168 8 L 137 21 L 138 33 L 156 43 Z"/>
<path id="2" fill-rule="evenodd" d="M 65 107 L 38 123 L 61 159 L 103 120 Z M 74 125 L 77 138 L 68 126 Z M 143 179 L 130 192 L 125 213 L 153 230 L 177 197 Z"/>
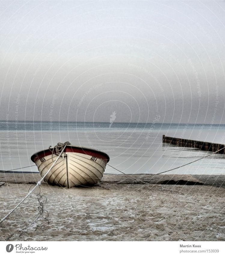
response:
<path id="1" fill-rule="evenodd" d="M 0 120 L 225 123 L 225 1 L 1 1 L 0 20 Z"/>

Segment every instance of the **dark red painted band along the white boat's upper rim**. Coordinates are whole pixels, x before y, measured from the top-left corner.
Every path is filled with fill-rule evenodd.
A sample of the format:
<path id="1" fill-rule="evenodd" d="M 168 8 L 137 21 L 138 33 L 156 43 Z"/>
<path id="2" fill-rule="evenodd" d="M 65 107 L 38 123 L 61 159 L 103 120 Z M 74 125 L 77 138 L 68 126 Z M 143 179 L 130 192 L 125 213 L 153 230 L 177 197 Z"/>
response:
<path id="1" fill-rule="evenodd" d="M 89 156 L 95 156 L 99 159 L 102 159 L 101 157 L 103 156 L 103 157 L 105 157 L 105 159 L 102 159 L 102 160 L 104 160 L 106 163 L 108 163 L 108 161 L 109 161 L 109 156 L 105 152 L 102 152 L 100 150 L 95 150 L 92 148 L 67 145 L 65 147 L 64 152 L 65 153 L 70 153 L 70 152 L 71 153 L 81 153 L 81 154 L 85 154 L 85 155 L 89 155 Z M 31 160 L 32 160 L 32 162 L 35 163 L 38 159 L 40 159 L 44 156 L 49 156 L 51 154 L 52 154 L 52 151 L 50 149 L 40 150 L 31 156 Z"/>

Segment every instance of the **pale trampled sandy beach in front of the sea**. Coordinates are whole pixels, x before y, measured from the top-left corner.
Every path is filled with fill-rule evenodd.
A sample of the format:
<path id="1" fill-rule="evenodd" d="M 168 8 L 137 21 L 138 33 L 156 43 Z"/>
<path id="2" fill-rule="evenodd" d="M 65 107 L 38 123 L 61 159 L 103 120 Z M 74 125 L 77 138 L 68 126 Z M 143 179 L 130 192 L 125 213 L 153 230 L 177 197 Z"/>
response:
<path id="1" fill-rule="evenodd" d="M 224 178 L 107 174 L 102 183 L 90 188 L 68 189 L 43 183 L 41 199 L 37 188 L 0 224 L 0 239 L 225 241 Z M 0 217 L 13 209 L 40 179 L 39 174 L 0 173 Z M 39 210 L 38 199 L 43 203 Z"/>

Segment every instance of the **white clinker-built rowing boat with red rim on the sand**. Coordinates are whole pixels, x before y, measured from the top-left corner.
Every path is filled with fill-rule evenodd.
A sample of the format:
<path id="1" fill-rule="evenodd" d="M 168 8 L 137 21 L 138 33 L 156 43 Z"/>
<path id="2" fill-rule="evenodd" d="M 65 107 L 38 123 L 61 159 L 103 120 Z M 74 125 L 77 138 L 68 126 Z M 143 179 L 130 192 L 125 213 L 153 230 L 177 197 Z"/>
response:
<path id="1" fill-rule="evenodd" d="M 59 157 L 63 146 L 65 149 Z M 54 161 L 59 157 L 52 169 Z M 99 150 L 58 143 L 31 156 L 45 182 L 62 187 L 91 186 L 101 181 L 109 156 Z"/>

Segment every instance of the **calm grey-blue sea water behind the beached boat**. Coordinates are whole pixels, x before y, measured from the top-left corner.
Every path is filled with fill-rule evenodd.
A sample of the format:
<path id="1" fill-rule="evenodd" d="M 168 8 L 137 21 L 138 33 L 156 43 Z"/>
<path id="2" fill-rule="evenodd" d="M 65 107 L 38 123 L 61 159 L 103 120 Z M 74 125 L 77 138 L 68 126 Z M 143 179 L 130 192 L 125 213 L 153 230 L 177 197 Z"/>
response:
<path id="1" fill-rule="evenodd" d="M 163 172 L 208 154 L 163 144 L 163 134 L 225 144 L 225 125 L 0 122 L 0 170 L 32 165 L 33 153 L 65 141 L 108 153 L 109 164 L 126 173 Z M 169 173 L 225 174 L 224 166 L 225 156 L 215 154 Z M 107 166 L 105 173 L 117 171 Z"/>

